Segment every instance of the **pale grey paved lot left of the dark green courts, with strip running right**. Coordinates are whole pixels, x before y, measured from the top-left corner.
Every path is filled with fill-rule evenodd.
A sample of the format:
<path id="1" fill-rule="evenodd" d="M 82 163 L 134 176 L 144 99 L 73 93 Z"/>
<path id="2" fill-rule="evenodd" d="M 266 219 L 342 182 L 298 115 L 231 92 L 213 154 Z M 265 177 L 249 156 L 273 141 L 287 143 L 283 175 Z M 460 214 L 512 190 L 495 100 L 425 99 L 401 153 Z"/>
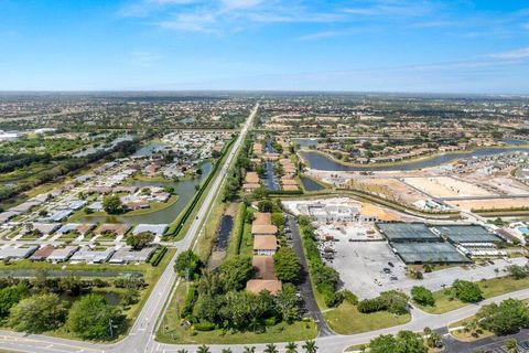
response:
<path id="1" fill-rule="evenodd" d="M 374 298 L 380 292 L 399 289 L 407 293 L 413 286 L 424 286 L 436 291 L 451 286 L 456 279 L 477 281 L 482 278 L 495 278 L 505 275 L 509 265 L 523 266 L 523 257 L 509 260 L 496 259 L 485 266 L 469 265 L 451 267 L 424 274 L 422 280 L 406 276 L 406 265 L 395 255 L 387 242 L 347 242 L 334 243 L 334 260 L 330 263 L 341 275 L 344 287 L 360 299 Z M 391 263 L 393 266 L 388 265 Z M 386 271 L 385 271 L 386 269 Z M 495 270 L 497 269 L 497 271 Z"/>

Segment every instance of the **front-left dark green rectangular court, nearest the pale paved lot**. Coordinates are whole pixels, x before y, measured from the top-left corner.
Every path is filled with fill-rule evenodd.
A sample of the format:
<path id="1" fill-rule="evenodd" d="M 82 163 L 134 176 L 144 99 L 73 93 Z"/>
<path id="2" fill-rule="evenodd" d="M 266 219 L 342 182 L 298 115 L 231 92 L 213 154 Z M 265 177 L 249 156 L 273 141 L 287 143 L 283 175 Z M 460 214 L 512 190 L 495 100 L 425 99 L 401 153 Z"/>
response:
<path id="1" fill-rule="evenodd" d="M 406 264 L 461 264 L 469 261 L 466 256 L 445 242 L 391 243 L 390 246 Z"/>

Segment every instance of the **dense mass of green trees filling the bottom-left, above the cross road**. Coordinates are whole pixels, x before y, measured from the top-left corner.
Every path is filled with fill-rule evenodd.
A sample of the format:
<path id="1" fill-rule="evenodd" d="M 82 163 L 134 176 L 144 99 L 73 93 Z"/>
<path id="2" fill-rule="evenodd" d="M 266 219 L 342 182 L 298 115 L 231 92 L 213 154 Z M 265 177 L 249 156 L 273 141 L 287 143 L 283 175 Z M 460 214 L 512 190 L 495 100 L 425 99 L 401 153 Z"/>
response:
<path id="1" fill-rule="evenodd" d="M 17 330 L 40 333 L 65 327 L 73 334 L 89 340 L 107 340 L 125 329 L 121 307 L 109 304 L 95 288 L 126 288 L 121 304 L 138 301 L 138 291 L 145 286 L 141 278 L 114 280 L 46 277 L 37 272 L 31 279 L 0 280 L 0 321 Z M 73 300 L 63 300 L 67 296 Z M 114 331 L 109 330 L 112 322 Z"/>

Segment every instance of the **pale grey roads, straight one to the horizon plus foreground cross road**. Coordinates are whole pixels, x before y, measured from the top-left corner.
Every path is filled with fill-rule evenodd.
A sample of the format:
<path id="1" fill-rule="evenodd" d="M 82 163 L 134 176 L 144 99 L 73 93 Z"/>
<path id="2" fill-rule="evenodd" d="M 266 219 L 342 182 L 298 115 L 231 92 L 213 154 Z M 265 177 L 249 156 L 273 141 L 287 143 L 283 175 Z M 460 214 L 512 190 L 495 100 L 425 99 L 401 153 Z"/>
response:
<path id="1" fill-rule="evenodd" d="M 240 149 L 240 146 L 244 142 L 244 139 L 253 121 L 253 117 L 257 114 L 259 105 L 256 105 L 251 110 L 250 116 L 245 122 L 239 137 L 237 138 L 234 148 L 230 151 L 230 154 L 227 157 L 226 164 L 220 170 L 219 174 L 213 182 L 212 189 L 201 208 L 198 210 L 197 216 L 193 220 L 193 223 L 187 231 L 185 237 L 175 243 L 177 248 L 176 254 L 182 250 L 193 248 L 196 243 L 196 235 L 201 231 L 204 221 L 207 217 L 209 206 L 213 204 L 216 195 L 220 191 L 220 186 L 226 179 L 228 173 L 228 165 L 230 165 L 235 156 Z M 193 243 L 195 242 L 195 243 Z M 177 255 L 174 255 L 170 264 L 176 259 Z M 52 338 L 46 335 L 39 334 L 25 334 L 20 332 L 11 332 L 0 330 L 0 349 L 19 351 L 19 352 L 31 352 L 31 353 L 65 353 L 65 352 L 76 352 L 76 353 L 144 353 L 144 352 L 156 352 L 156 353 L 176 353 L 181 349 L 186 349 L 190 352 L 196 350 L 196 345 L 175 345 L 175 344 L 164 344 L 154 341 L 154 335 L 156 331 L 158 319 L 161 318 L 164 304 L 170 298 L 172 288 L 177 282 L 176 275 L 174 274 L 173 267 L 169 265 L 160 277 L 159 281 L 154 286 L 150 297 L 148 298 L 145 304 L 143 306 L 138 319 L 132 325 L 129 334 L 121 341 L 112 344 L 95 344 L 89 342 L 80 342 L 75 340 L 66 340 Z M 529 289 L 519 290 L 512 293 L 507 293 L 496 298 L 492 298 L 483 301 L 479 304 L 466 306 L 464 308 L 444 313 L 444 314 L 429 314 L 418 309 L 412 309 L 412 320 L 403 325 L 370 331 L 365 333 L 358 333 L 353 335 L 326 335 L 320 336 L 316 339 L 316 344 L 320 347 L 319 352 L 343 352 L 349 345 L 356 345 L 368 342 L 370 339 L 378 336 L 379 334 L 396 333 L 400 330 L 412 330 L 412 331 L 422 331 L 423 328 L 429 327 L 431 329 L 444 328 L 450 322 L 458 321 L 475 314 L 481 306 L 487 304 L 490 302 L 498 302 L 507 298 L 517 298 L 517 299 L 527 299 L 529 298 Z M 250 345 L 250 344 L 248 344 Z M 255 345 L 258 351 L 264 349 L 263 344 Z M 284 344 L 278 344 L 280 349 L 284 347 Z M 226 345 L 209 345 L 210 351 L 216 353 L 220 352 L 222 349 L 225 349 Z M 235 353 L 242 352 L 244 345 L 230 345 L 229 346 Z"/>

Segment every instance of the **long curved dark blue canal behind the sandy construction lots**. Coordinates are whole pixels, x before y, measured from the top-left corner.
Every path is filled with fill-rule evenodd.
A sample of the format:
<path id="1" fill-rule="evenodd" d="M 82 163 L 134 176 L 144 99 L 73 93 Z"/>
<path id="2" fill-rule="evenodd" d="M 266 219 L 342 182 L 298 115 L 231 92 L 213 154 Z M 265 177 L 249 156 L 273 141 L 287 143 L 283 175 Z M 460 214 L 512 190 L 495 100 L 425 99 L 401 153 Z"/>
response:
<path id="1" fill-rule="evenodd" d="M 438 154 L 433 158 L 428 158 L 423 160 L 418 160 L 415 162 L 408 162 L 402 164 L 392 164 L 392 165 L 347 165 L 338 163 L 327 156 L 315 151 L 299 151 L 301 157 L 306 161 L 310 168 L 316 170 L 325 171 L 399 171 L 399 170 L 414 170 L 423 169 L 430 167 L 436 167 L 445 163 L 453 162 L 460 159 L 473 158 L 473 157 L 485 157 L 494 156 L 499 153 L 510 153 L 510 152 L 529 152 L 529 147 L 514 147 L 509 149 L 505 148 L 482 148 L 474 150 L 472 152 L 462 152 L 462 153 L 445 153 Z"/>

